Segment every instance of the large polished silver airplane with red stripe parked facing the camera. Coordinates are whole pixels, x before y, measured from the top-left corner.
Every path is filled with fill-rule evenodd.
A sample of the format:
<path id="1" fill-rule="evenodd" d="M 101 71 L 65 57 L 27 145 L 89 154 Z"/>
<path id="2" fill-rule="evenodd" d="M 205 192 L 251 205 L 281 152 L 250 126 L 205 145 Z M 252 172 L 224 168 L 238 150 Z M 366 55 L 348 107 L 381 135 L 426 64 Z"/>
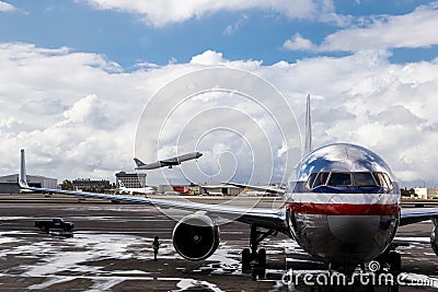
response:
<path id="1" fill-rule="evenodd" d="M 309 96 L 307 103 L 310 108 Z M 258 267 L 256 270 L 263 271 L 266 250 L 260 245 L 266 237 L 284 233 L 333 270 L 351 275 L 358 265 L 365 267 L 378 259 L 400 271 L 401 256 L 394 243 L 397 227 L 427 220 L 434 223 L 430 245 L 438 256 L 438 208 L 402 209 L 400 187 L 390 166 L 366 148 L 335 143 L 312 151 L 310 112 L 306 119 L 309 153 L 297 167 L 297 179 L 283 191 L 285 203 L 275 210 L 30 187 L 24 150 L 19 183 L 21 188 L 35 191 L 192 211 L 176 222 L 172 235 L 175 250 L 188 260 L 203 260 L 216 252 L 219 218 L 243 222 L 250 225 L 250 244 L 241 254 L 243 270 Z"/>

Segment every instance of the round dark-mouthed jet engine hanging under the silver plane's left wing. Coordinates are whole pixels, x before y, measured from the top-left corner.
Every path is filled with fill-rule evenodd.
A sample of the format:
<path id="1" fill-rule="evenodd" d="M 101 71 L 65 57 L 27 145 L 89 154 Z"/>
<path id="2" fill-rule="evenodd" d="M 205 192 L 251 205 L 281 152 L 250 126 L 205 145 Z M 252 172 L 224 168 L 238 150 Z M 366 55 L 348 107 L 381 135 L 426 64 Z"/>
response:
<path id="1" fill-rule="evenodd" d="M 187 215 L 173 229 L 173 246 L 186 259 L 206 259 L 219 246 L 219 226 L 207 215 Z"/>

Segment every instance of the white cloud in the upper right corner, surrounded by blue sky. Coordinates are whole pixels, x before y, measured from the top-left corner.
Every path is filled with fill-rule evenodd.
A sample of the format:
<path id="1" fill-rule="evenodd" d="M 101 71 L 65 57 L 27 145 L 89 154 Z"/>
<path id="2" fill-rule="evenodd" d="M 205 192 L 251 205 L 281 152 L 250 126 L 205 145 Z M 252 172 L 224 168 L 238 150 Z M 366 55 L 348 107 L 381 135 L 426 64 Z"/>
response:
<path id="1" fill-rule="evenodd" d="M 299 34 L 288 39 L 290 50 L 360 51 L 388 48 L 424 48 L 438 45 L 438 2 L 422 5 L 403 15 L 379 15 L 358 19 L 361 26 L 350 26 L 327 35 L 321 45 Z"/>

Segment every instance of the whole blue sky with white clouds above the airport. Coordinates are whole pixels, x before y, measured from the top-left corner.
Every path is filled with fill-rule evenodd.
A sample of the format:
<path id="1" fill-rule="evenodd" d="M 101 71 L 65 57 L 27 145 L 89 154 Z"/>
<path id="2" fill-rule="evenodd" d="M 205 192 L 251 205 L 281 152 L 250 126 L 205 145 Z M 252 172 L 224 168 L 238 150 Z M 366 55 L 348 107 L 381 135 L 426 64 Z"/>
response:
<path id="1" fill-rule="evenodd" d="M 25 148 L 32 174 L 114 180 L 116 171 L 134 168 L 134 155 L 149 161 L 181 151 L 183 129 L 175 125 L 184 124 L 208 138 L 194 138 L 207 176 L 191 179 L 216 183 L 229 173 L 234 180 L 264 179 L 247 155 L 263 151 L 249 139 L 255 122 L 270 137 L 275 151 L 266 157 L 278 161 L 278 180 L 287 170 L 280 161 L 285 153 L 298 157 L 300 141 L 275 144 L 264 107 L 245 98 L 215 93 L 199 98 L 198 113 L 189 101 L 172 112 L 173 127 L 160 137 L 141 132 L 160 140 L 157 148 L 136 149 L 137 125 L 160 89 L 199 69 L 227 67 L 278 89 L 301 130 L 310 93 L 315 147 L 358 143 L 380 154 L 402 186 L 438 186 L 438 2 L 0 1 L 0 175 L 18 172 Z M 209 105 L 217 109 L 208 114 Z M 253 116 L 240 124 L 224 107 Z M 200 115 L 199 122 L 191 115 Z M 212 135 L 231 124 L 245 135 Z M 172 183 L 184 175 L 165 172 Z M 153 177 L 149 183 L 159 183 Z"/>

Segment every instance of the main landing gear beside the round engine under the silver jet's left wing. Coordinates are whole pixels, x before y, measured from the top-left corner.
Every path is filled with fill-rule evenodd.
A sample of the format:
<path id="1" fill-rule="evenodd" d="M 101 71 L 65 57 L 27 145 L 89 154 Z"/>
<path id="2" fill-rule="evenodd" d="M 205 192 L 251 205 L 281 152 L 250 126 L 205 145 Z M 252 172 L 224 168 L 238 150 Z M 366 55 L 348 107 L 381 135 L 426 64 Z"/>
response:
<path id="1" fill-rule="evenodd" d="M 266 232 L 262 232 L 258 230 L 257 225 L 251 225 L 251 234 L 250 234 L 250 248 L 243 248 L 242 250 L 242 271 L 253 270 L 253 275 L 258 276 L 258 278 L 265 277 L 266 271 L 266 249 L 258 248 L 258 244 L 270 235 L 277 235 L 277 231 L 268 230 Z M 254 262 L 255 265 L 251 265 Z"/>

